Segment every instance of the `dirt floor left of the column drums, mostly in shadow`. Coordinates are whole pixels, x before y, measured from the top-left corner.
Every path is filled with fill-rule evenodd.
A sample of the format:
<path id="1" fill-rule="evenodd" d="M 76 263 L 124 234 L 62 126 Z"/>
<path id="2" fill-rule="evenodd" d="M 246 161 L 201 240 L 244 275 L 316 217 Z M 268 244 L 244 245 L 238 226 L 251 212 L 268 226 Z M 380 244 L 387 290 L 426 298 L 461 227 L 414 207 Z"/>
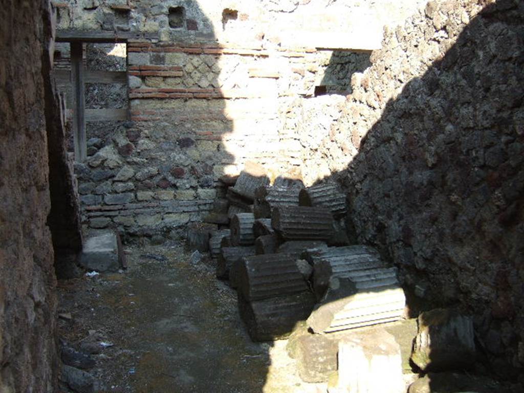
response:
<path id="1" fill-rule="evenodd" d="M 61 338 L 93 354 L 107 392 L 325 391 L 303 383 L 287 341 L 253 343 L 236 292 L 182 245 L 126 248 L 122 273 L 59 282 Z"/>

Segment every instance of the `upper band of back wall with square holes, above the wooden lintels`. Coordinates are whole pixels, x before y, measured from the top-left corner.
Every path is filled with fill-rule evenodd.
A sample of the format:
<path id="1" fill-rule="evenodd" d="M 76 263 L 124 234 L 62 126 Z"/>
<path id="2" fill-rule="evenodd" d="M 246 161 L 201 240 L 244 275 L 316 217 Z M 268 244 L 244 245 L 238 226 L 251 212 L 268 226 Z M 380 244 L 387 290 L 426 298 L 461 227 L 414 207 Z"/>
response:
<path id="1" fill-rule="evenodd" d="M 59 8 L 59 29 L 132 31 L 164 42 L 216 40 L 241 47 L 263 43 L 266 48 L 368 50 L 380 46 L 384 25 L 398 24 L 426 2 L 53 0 Z"/>

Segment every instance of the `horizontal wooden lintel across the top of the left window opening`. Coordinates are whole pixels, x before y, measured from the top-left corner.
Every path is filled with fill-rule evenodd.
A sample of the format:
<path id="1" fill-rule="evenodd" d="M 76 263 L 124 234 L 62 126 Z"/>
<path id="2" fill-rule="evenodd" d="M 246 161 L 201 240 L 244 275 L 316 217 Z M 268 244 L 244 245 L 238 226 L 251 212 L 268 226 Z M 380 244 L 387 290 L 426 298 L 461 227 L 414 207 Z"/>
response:
<path id="1" fill-rule="evenodd" d="M 157 32 L 57 30 L 57 42 L 126 42 L 129 39 L 158 40 Z"/>

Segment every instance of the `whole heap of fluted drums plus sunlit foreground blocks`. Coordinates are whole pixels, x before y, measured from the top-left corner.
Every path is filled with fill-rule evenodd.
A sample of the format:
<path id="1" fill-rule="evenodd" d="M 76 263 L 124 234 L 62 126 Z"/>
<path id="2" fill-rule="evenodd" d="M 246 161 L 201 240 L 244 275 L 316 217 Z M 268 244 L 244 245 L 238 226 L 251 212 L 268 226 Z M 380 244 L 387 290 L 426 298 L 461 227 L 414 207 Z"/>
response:
<path id="1" fill-rule="evenodd" d="M 242 172 L 238 185 L 222 179 L 215 203 L 220 211 L 206 217 L 213 222 L 228 212 L 230 233 L 222 219 L 214 221 L 219 230 L 211 235 L 211 255 L 217 277 L 237 290 L 253 341 L 289 338 L 302 380 L 327 383 L 321 391 L 330 393 L 403 392 L 425 369 L 474 362 L 467 316 L 422 313 L 416 334 L 416 321 L 405 319 L 396 268 L 373 247 L 349 244 L 339 185 L 277 186 L 259 168 L 256 174 Z M 454 348 L 457 356 L 450 354 Z M 421 384 L 411 390 L 421 391 L 413 390 Z"/>

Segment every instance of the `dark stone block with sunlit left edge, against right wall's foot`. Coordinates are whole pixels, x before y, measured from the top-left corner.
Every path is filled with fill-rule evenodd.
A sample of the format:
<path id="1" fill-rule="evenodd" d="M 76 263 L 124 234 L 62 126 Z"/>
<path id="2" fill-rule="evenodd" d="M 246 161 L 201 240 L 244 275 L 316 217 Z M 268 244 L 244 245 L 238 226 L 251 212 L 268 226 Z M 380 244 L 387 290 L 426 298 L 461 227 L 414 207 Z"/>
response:
<path id="1" fill-rule="evenodd" d="M 475 363 L 475 342 L 471 316 L 456 310 L 422 312 L 411 360 L 422 370 L 454 370 Z"/>

